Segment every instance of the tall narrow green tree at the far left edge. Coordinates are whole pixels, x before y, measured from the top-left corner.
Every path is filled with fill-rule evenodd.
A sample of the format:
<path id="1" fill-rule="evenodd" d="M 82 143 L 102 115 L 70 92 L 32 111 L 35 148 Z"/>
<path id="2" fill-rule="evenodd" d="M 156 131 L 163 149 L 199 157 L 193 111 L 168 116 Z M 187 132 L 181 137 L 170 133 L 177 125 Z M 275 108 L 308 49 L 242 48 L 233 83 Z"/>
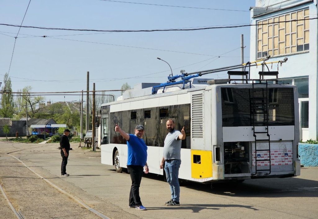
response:
<path id="1" fill-rule="evenodd" d="M 12 92 L 11 88 L 11 79 L 8 76 L 8 73 L 4 74 L 3 77 L 3 94 L 1 97 L 1 109 L 0 109 L 0 117 L 3 118 L 12 118 L 14 114 L 14 102 L 13 97 L 10 92 Z"/>

